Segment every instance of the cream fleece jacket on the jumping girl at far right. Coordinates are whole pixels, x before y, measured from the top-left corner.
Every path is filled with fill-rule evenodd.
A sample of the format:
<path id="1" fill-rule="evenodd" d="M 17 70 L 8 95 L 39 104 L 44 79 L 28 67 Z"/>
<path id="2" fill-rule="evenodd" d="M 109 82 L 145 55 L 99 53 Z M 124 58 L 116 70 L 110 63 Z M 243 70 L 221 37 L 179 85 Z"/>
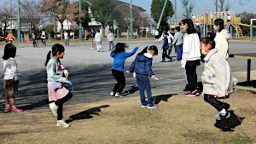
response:
<path id="1" fill-rule="evenodd" d="M 202 73 L 203 94 L 224 97 L 234 92 L 237 79 L 231 76 L 230 65 L 218 49 L 212 49 L 205 60 L 205 69 Z"/>

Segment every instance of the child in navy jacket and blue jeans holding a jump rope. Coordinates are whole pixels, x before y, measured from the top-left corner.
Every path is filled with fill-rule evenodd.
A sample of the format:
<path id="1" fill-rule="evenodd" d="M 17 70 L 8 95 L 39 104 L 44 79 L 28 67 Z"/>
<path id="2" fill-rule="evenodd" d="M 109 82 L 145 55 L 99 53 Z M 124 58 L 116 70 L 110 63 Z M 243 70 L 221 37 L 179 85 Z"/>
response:
<path id="1" fill-rule="evenodd" d="M 143 49 L 141 53 L 137 55 L 132 62 L 128 73 L 135 72 L 137 85 L 140 90 L 141 107 L 157 108 L 158 105 L 152 102 L 151 86 L 148 77 L 155 79 L 154 73 L 151 70 L 153 56 L 158 55 L 158 49 L 156 46 L 151 45 Z M 144 90 L 147 91 L 148 102 L 145 101 Z"/>

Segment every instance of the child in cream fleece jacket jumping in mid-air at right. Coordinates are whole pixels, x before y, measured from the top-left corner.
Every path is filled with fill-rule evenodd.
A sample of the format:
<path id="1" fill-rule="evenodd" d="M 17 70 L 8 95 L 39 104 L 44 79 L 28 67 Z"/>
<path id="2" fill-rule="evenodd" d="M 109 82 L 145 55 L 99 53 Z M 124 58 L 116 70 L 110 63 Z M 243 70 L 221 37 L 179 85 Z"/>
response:
<path id="1" fill-rule="evenodd" d="M 206 55 L 205 69 L 202 73 L 201 81 L 203 84 L 204 100 L 218 110 L 215 115 L 217 120 L 229 118 L 230 112 L 227 112 L 230 105 L 217 98 L 225 98 L 233 92 L 233 85 L 237 79 L 231 77 L 230 66 L 222 55 L 218 54 L 215 48 L 213 37 L 203 37 L 201 39 L 201 53 Z"/>

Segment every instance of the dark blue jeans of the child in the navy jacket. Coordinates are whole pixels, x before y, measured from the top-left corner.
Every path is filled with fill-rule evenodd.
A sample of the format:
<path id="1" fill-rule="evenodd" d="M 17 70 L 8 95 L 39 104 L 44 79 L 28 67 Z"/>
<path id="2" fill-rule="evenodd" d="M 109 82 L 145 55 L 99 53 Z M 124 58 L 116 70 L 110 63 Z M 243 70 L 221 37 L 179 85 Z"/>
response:
<path id="1" fill-rule="evenodd" d="M 152 105 L 153 104 L 152 97 L 151 97 L 152 93 L 151 93 L 151 86 L 150 86 L 148 75 L 136 73 L 136 80 L 137 80 L 137 86 L 140 90 L 142 105 L 143 106 L 146 106 L 147 104 Z M 145 100 L 145 95 L 144 95 L 145 89 L 147 92 L 148 102 Z"/>

